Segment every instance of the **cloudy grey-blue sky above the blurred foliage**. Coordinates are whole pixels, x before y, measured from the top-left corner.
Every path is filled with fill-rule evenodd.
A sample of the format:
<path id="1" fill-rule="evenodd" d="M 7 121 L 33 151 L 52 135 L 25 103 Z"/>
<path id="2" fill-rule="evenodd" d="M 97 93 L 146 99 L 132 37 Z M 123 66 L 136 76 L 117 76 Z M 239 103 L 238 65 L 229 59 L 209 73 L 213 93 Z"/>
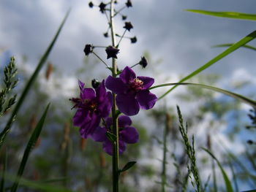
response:
<path id="1" fill-rule="evenodd" d="M 99 4 L 100 1 L 93 2 Z M 7 56 L 15 55 L 19 66 L 22 55 L 26 55 L 29 66 L 26 69 L 32 71 L 50 44 L 67 10 L 72 7 L 67 23 L 50 53 L 49 61 L 63 74 L 62 80 L 66 80 L 64 85 L 77 88 L 76 73 L 84 66 L 84 46 L 110 45 L 110 38 L 106 39 L 102 35 L 108 28 L 105 15 L 99 12 L 98 7 L 89 8 L 88 3 L 86 0 L 1 0 L 0 69 Z M 133 7 L 124 9 L 124 15 L 128 16 L 127 21 L 134 26 L 126 36 L 136 36 L 138 42 L 131 44 L 129 39 L 121 42 L 118 66 L 119 69 L 132 66 L 140 61 L 143 53 L 148 52 L 151 62 L 147 69 L 141 70 L 138 67 L 135 70 L 140 75 L 154 75 L 157 83 L 178 81 L 181 76 L 193 72 L 225 50 L 211 46 L 237 42 L 255 30 L 253 21 L 214 18 L 184 11 L 206 9 L 253 14 L 255 0 L 134 0 L 132 4 Z M 116 31 L 122 34 L 124 21 L 117 17 L 115 22 Z M 249 45 L 256 47 L 256 42 L 249 42 Z M 95 51 L 110 64 L 104 49 Z M 97 60 L 94 55 L 89 55 L 89 58 Z M 219 86 L 222 88 L 230 88 L 231 81 L 249 80 L 252 87 L 250 91 L 247 89 L 243 92 L 249 94 L 256 85 L 255 60 L 256 54 L 252 50 L 241 48 L 206 69 L 203 74 L 221 74 L 223 80 Z M 97 65 L 88 74 L 89 77 L 107 77 L 109 72 L 105 71 L 104 65 Z M 89 71 L 92 68 L 87 67 Z M 53 91 L 54 88 L 49 90 Z"/>

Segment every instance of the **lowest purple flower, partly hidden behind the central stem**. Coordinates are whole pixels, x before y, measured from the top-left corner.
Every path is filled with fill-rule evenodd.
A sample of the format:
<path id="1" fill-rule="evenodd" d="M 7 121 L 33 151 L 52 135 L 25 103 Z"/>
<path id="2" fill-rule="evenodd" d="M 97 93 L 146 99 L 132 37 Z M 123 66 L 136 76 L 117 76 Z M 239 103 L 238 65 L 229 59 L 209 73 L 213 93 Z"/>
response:
<path id="1" fill-rule="evenodd" d="M 122 115 L 118 118 L 119 154 L 124 153 L 126 143 L 138 142 L 138 131 L 131 124 L 132 120 L 128 116 Z M 92 139 L 96 142 L 102 142 L 103 150 L 109 155 L 113 155 L 113 144 L 106 136 L 106 132 L 111 131 L 110 126 L 112 126 L 112 118 L 106 118 L 105 126 L 98 126 L 92 135 Z"/>

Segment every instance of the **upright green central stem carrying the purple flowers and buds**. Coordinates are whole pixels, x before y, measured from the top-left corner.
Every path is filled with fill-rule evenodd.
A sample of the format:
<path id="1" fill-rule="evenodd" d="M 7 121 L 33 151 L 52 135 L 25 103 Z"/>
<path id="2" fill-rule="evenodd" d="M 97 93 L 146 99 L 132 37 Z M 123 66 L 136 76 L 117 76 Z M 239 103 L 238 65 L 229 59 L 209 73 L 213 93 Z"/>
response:
<path id="1" fill-rule="evenodd" d="M 110 31 L 111 31 L 111 40 L 112 46 L 116 47 L 116 33 L 113 22 L 114 17 L 114 0 L 111 0 L 110 3 Z M 112 76 L 116 77 L 117 74 L 117 64 L 116 59 L 112 58 Z M 116 135 L 116 142 L 113 145 L 113 158 L 112 158 L 112 166 L 113 166 L 113 192 L 118 192 L 118 121 L 116 115 L 116 94 L 113 94 L 113 106 L 112 106 L 112 118 L 113 118 L 113 134 Z"/>

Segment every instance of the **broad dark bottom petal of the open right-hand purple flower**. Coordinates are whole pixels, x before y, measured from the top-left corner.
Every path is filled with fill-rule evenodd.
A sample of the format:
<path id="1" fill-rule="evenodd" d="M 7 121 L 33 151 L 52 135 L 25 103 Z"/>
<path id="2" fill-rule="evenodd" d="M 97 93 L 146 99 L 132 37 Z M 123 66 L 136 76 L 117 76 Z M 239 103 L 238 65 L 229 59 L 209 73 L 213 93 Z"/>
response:
<path id="1" fill-rule="evenodd" d="M 124 115 L 137 115 L 140 110 L 138 101 L 132 94 L 118 94 L 116 96 L 116 105 Z"/>

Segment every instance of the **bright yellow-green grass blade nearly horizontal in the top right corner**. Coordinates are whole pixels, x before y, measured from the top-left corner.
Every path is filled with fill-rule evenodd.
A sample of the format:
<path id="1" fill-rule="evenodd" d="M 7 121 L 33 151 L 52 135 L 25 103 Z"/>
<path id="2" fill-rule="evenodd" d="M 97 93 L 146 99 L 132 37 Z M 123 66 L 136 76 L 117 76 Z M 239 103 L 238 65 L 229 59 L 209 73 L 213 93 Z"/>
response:
<path id="1" fill-rule="evenodd" d="M 211 15 L 214 17 L 220 18 L 230 18 L 230 19 L 239 19 L 239 20 L 256 20 L 255 14 L 248 14 L 244 12 L 211 12 L 206 10 L 199 9 L 185 9 L 187 12 L 195 12 L 203 15 Z"/>

